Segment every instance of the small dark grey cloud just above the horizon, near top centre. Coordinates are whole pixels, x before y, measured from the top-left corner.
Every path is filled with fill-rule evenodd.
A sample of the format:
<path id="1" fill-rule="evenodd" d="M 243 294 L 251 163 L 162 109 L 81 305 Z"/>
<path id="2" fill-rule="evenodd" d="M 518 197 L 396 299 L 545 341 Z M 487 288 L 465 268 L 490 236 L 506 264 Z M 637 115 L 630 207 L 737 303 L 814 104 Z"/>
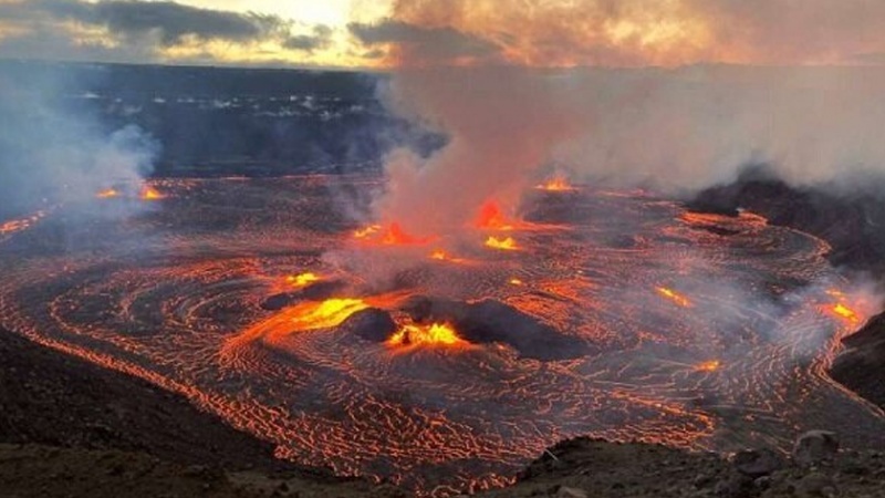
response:
<path id="1" fill-rule="evenodd" d="M 488 62 L 499 52 L 494 42 L 448 27 L 424 28 L 383 19 L 371 24 L 351 23 L 347 28 L 365 45 L 394 45 L 396 50 L 392 55 L 400 63 Z"/>

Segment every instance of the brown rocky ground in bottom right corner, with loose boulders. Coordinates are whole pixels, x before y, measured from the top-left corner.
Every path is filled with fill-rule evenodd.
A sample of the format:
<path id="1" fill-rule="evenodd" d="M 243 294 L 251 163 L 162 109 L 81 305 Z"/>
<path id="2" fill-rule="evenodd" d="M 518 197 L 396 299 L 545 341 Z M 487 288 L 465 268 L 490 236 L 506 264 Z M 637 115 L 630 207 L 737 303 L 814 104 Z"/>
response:
<path id="1" fill-rule="evenodd" d="M 805 435 L 793 455 L 762 448 L 730 458 L 579 438 L 550 448 L 516 486 L 486 496 L 885 497 L 885 454 L 839 452 L 832 437 Z"/>

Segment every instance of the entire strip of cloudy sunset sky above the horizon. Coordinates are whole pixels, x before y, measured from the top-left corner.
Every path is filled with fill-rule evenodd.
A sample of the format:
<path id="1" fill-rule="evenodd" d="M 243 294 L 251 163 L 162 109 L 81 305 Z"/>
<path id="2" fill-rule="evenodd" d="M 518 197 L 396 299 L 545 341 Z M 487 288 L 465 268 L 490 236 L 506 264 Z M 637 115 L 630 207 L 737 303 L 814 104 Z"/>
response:
<path id="1" fill-rule="evenodd" d="M 376 68 L 879 64 L 882 0 L 0 0 L 0 58 Z"/>

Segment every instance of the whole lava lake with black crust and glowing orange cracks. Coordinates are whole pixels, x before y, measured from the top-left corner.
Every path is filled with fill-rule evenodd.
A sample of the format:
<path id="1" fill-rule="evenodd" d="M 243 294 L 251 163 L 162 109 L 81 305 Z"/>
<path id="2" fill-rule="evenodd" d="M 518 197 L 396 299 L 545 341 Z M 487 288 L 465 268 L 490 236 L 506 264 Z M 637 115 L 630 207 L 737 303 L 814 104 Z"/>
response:
<path id="1" fill-rule="evenodd" d="M 418 239 L 344 208 L 381 186 L 159 180 L 90 205 L 143 203 L 132 216 L 7 224 L 0 325 L 180 392 L 281 458 L 426 495 L 507 485 L 579 435 L 885 444 L 882 413 L 825 374 L 875 310 L 823 241 L 593 188 Z"/>

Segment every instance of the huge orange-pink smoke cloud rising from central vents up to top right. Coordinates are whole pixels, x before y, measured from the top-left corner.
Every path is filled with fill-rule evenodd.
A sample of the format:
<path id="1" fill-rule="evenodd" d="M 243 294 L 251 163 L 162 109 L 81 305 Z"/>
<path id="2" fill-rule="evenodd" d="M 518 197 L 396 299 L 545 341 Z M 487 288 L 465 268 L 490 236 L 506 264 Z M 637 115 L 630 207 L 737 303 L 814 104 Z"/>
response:
<path id="1" fill-rule="evenodd" d="M 399 0 L 351 30 L 399 68 L 389 106 L 449 142 L 391 155 L 379 217 L 449 230 L 550 167 L 671 194 L 748 164 L 794 185 L 877 174 L 885 70 L 858 64 L 882 28 L 861 0 Z"/>

